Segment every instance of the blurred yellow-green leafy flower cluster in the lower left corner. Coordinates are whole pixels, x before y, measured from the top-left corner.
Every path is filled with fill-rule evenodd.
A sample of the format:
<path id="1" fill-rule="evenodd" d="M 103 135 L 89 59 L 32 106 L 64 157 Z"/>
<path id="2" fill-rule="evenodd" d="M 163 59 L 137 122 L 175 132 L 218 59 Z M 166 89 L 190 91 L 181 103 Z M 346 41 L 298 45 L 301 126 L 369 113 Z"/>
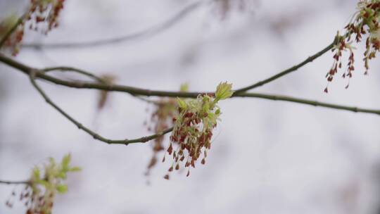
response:
<path id="1" fill-rule="evenodd" d="M 44 165 L 43 169 L 38 166 L 33 168 L 27 186 L 20 193 L 20 201 L 23 201 L 27 207 L 26 214 L 51 213 L 54 196 L 68 191 L 68 186 L 63 184 L 66 174 L 80 171 L 80 168 L 70 166 L 70 159 L 70 154 L 64 156 L 61 163 L 56 163 L 53 158 L 49 158 L 49 164 Z M 15 192 L 12 196 L 15 196 Z M 11 199 L 6 202 L 6 205 L 13 206 Z"/>

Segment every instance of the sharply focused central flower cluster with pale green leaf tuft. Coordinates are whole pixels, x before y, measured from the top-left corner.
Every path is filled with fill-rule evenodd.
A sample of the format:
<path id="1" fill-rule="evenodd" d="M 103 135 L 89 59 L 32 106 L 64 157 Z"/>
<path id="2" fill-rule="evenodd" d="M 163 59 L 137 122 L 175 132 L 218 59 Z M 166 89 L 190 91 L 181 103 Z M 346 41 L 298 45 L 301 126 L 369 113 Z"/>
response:
<path id="1" fill-rule="evenodd" d="M 213 130 L 221 114 L 217 102 L 232 96 L 231 89 L 232 84 L 224 82 L 217 86 L 215 94 L 200 94 L 196 99 L 177 99 L 178 115 L 173 118 L 175 126 L 167 148 L 167 153 L 173 158 L 169 172 L 179 170 L 182 163 L 184 168 L 188 168 L 186 176 L 189 176 L 190 167 L 195 168 L 202 155 L 201 163 L 205 164 Z M 164 178 L 168 180 L 169 174 Z"/>

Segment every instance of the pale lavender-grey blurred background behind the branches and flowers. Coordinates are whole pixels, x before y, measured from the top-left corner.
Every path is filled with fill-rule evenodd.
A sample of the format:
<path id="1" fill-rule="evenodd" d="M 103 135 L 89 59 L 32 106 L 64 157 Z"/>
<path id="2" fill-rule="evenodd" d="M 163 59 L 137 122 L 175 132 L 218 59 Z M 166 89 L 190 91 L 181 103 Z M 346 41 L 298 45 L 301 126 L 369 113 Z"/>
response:
<path id="1" fill-rule="evenodd" d="M 25 44 L 122 37 L 159 25 L 196 2 L 66 0 L 60 27 L 47 36 L 27 32 Z M 190 91 L 211 91 L 222 81 L 239 88 L 322 50 L 348 23 L 357 1 L 224 3 L 197 4 L 148 36 L 82 48 L 25 47 L 16 59 L 39 68 L 75 66 L 147 89 L 178 90 L 188 82 Z M 0 0 L 0 20 L 23 13 L 27 4 Z M 323 93 L 333 63 L 329 52 L 255 92 L 379 109 L 379 59 L 363 75 L 363 49 L 364 44 L 357 45 L 348 89 L 347 80 L 338 77 L 329 94 Z M 380 213 L 376 115 L 261 99 L 223 101 L 208 163 L 190 177 L 175 172 L 167 181 L 163 175 L 170 162 L 144 175 L 152 155 L 149 144 L 95 141 L 47 105 L 23 73 L 3 64 L 0 70 L 0 179 L 27 179 L 34 164 L 68 152 L 83 169 L 69 175 L 69 191 L 57 196 L 53 213 Z M 99 111 L 94 90 L 41 85 L 65 111 L 105 137 L 150 133 L 144 121 L 152 106 L 144 101 L 110 93 Z M 13 189 L 22 188 L 0 186 L 0 213 L 25 212 L 21 203 L 5 206 Z"/>

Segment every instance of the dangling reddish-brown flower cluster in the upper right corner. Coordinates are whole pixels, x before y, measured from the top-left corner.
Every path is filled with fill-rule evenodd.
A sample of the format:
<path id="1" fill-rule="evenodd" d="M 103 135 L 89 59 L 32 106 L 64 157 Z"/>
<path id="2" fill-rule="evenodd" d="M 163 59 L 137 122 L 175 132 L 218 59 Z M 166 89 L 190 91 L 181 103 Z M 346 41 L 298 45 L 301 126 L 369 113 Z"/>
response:
<path id="1" fill-rule="evenodd" d="M 343 73 L 342 77 L 353 77 L 354 67 L 354 52 L 353 42 L 359 43 L 362 41 L 362 37 L 368 34 L 366 39 L 366 50 L 364 53 L 363 61 L 365 62 L 365 75 L 368 73 L 369 60 L 376 56 L 376 52 L 380 51 L 380 0 L 362 0 L 357 3 L 357 12 L 353 16 L 353 20 L 345 27 L 345 34 L 340 35 L 339 32 L 336 35 L 335 45 L 332 51 L 334 52 L 334 63 L 327 73 L 327 81 L 331 82 L 334 79 L 338 69 L 342 68 L 341 56 L 343 51 L 349 51 L 347 70 Z M 355 37 L 353 39 L 352 37 Z M 347 84 L 346 88 L 348 88 Z M 324 92 L 328 92 L 328 89 L 324 89 Z"/>

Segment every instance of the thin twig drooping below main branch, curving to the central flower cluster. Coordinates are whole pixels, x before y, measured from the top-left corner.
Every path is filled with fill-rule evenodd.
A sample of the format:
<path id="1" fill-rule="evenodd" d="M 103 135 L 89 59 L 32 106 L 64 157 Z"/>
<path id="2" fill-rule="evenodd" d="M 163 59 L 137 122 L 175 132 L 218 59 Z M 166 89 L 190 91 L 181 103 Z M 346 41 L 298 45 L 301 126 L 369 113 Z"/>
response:
<path id="1" fill-rule="evenodd" d="M 42 90 L 42 88 L 39 87 L 39 85 L 37 84 L 37 82 L 34 80 L 35 75 L 36 75 L 35 72 L 30 73 L 30 82 L 32 82 L 33 87 L 35 89 L 37 89 L 37 92 L 39 92 L 39 94 L 41 94 L 41 96 L 44 97 L 46 103 L 49 103 L 49 105 L 52 106 L 53 108 L 55 108 L 56 111 L 58 111 L 65 118 L 67 118 L 72 123 L 74 123 L 78 127 L 78 129 L 83 130 L 84 132 L 87 132 L 87 134 L 89 134 L 92 137 L 94 137 L 94 139 L 97 139 L 99 141 L 103 141 L 103 142 L 105 142 L 107 144 L 125 144 L 125 145 L 128 145 L 128 144 L 140 143 L 140 142 L 141 143 L 145 143 L 146 141 L 149 141 L 151 139 L 155 139 L 157 137 L 162 136 L 163 134 L 167 134 L 167 133 L 169 133 L 169 132 L 172 131 L 172 128 L 170 128 L 170 129 L 164 130 L 163 132 L 160 132 L 160 133 L 157 133 L 157 134 L 153 134 L 153 135 L 150 135 L 150 136 L 146 136 L 146 137 L 140 137 L 140 138 L 137 138 L 137 139 L 113 140 L 113 139 L 107 139 L 105 137 L 102 137 L 100 134 L 97 134 L 96 132 L 90 130 L 89 128 L 85 127 L 80 122 L 78 122 L 77 120 L 75 120 L 74 118 L 72 118 L 70 115 L 68 115 L 68 113 L 65 113 L 65 111 L 63 111 L 62 108 L 60 108 L 59 106 L 57 106 L 56 103 L 53 103 L 53 101 L 51 101 L 51 99 L 49 98 L 49 96 L 47 96 L 45 94 L 45 92 Z"/>

